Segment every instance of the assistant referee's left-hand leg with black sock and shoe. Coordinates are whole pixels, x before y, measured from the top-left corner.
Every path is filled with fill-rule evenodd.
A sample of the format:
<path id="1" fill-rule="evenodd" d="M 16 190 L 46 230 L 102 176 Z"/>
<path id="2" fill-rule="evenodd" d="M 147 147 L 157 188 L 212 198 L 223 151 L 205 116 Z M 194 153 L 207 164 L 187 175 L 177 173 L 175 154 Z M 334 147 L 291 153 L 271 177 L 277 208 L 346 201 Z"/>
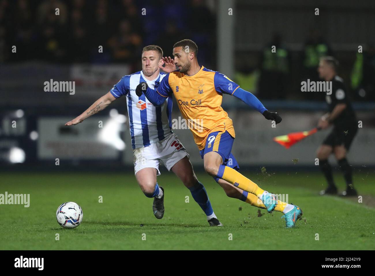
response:
<path id="1" fill-rule="evenodd" d="M 326 190 L 321 190 L 320 195 L 336 195 L 337 188 L 333 181 L 332 168 L 328 162 L 328 157 L 331 155 L 333 149 L 329 145 L 321 145 L 317 150 L 317 157 L 319 159 L 319 167 L 327 180 L 328 187 Z"/>

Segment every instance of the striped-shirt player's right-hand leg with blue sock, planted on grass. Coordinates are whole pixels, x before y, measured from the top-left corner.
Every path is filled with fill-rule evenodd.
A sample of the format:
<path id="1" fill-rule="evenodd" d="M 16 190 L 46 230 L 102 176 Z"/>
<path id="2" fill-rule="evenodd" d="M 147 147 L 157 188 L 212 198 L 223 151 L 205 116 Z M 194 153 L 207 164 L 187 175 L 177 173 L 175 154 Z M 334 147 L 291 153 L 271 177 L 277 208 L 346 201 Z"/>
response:
<path id="1" fill-rule="evenodd" d="M 217 220 L 215 213 L 211 207 L 211 202 L 208 199 L 207 192 L 204 186 L 195 176 L 193 166 L 189 161 L 189 158 L 185 156 L 179 160 L 172 167 L 172 172 L 181 179 L 183 184 L 187 189 L 190 190 L 193 199 L 202 208 L 207 216 L 207 221 L 211 226 L 222 226 L 222 224 Z"/>

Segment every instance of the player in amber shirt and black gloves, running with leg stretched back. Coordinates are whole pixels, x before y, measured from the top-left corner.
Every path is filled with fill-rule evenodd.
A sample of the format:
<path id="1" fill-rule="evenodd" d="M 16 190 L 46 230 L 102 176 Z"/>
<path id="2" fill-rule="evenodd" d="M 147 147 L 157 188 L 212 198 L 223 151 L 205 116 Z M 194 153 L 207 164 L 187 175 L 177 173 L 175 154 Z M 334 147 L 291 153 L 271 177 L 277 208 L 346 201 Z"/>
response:
<path id="1" fill-rule="evenodd" d="M 269 213 L 274 210 L 284 213 L 286 226 L 294 227 L 296 220 L 302 216 L 302 210 L 298 206 L 279 201 L 274 194 L 261 189 L 238 172 L 236 158 L 231 154 L 235 139 L 234 127 L 221 107 L 222 94 L 241 99 L 276 124 L 281 122 L 281 117 L 276 112 L 267 110 L 253 94 L 241 89 L 225 75 L 199 66 L 197 53 L 198 47 L 190 39 L 175 43 L 174 60 L 163 60 L 174 63 L 178 70 L 171 70 L 156 90 L 148 87 L 147 83 L 140 83 L 136 88 L 137 95 L 144 93 L 152 104 L 160 106 L 173 94 L 185 119 L 202 122 L 200 129 L 203 131 L 191 131 L 203 158 L 205 171 L 220 186 L 231 184 L 243 190 L 243 196 L 249 204 L 266 208 Z M 231 164 L 228 163 L 229 159 Z"/>

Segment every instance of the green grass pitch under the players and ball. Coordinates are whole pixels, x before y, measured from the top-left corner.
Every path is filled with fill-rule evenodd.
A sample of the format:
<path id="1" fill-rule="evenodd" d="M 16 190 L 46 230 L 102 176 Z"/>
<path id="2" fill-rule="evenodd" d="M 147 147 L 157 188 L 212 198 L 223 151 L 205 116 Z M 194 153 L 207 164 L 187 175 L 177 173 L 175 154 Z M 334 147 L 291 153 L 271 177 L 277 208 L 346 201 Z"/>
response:
<path id="1" fill-rule="evenodd" d="M 373 172 L 354 172 L 354 184 L 363 195 L 363 203 L 318 196 L 325 187 L 319 173 L 243 173 L 263 189 L 288 194 L 288 201 L 302 208 L 303 219 L 296 228 L 284 228 L 282 213 L 268 214 L 226 197 L 204 173 L 198 173 L 198 179 L 205 185 L 224 227 L 209 227 L 189 190 L 166 171 L 158 176 L 165 189 L 165 214 L 161 220 L 153 216 L 152 199 L 142 194 L 132 173 L 15 172 L 1 174 L 0 193 L 29 193 L 30 207 L 0 205 L 0 249 L 375 249 Z M 342 175 L 336 174 L 335 179 L 343 190 Z M 103 197 L 102 203 L 99 196 Z M 185 196 L 189 196 L 189 203 Z M 78 228 L 63 229 L 56 221 L 56 209 L 66 201 L 77 202 L 83 210 L 83 222 Z M 258 210 L 263 214 L 260 217 Z M 55 239 L 56 234 L 59 240 Z"/>

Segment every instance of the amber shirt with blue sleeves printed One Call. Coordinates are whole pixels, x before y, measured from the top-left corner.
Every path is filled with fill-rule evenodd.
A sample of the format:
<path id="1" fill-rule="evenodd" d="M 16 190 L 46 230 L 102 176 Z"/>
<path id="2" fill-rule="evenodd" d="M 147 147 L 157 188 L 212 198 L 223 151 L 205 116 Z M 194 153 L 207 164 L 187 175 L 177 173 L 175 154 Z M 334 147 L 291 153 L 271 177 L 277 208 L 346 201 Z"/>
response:
<path id="1" fill-rule="evenodd" d="M 207 135 L 214 131 L 228 131 L 235 137 L 231 118 L 221 107 L 222 94 L 233 95 L 239 87 L 225 75 L 201 66 L 194 75 L 179 71 L 167 74 L 157 87 L 163 97 L 171 94 L 186 120 L 190 120 L 193 137 L 199 150 L 203 149 Z"/>

